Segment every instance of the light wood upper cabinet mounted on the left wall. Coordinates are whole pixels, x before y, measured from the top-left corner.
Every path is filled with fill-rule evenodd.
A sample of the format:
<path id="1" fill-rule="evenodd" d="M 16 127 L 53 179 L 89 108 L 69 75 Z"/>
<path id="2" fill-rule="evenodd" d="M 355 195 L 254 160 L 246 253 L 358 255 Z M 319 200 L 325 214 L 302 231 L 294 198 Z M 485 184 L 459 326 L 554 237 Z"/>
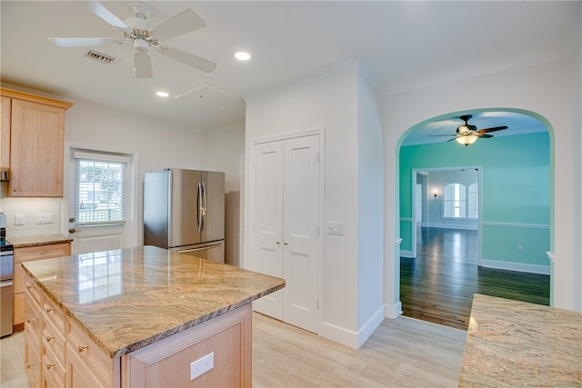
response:
<path id="1" fill-rule="evenodd" d="M 63 196 L 65 110 L 72 104 L 0 89 L 2 167 L 9 153 L 11 196 Z M 6 119 L 6 114 L 9 119 Z M 6 146 L 6 141 L 10 147 Z"/>

